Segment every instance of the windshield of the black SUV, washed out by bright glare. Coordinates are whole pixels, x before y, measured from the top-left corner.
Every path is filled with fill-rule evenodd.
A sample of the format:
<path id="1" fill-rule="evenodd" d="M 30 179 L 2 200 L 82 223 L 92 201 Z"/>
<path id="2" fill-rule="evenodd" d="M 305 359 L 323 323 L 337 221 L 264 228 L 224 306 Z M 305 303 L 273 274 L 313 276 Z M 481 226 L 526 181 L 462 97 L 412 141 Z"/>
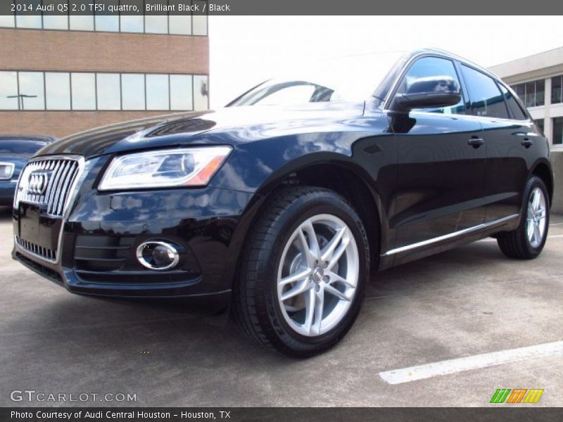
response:
<path id="1" fill-rule="evenodd" d="M 262 82 L 227 107 L 365 101 L 403 55 L 385 51 L 303 65 L 284 77 Z"/>

